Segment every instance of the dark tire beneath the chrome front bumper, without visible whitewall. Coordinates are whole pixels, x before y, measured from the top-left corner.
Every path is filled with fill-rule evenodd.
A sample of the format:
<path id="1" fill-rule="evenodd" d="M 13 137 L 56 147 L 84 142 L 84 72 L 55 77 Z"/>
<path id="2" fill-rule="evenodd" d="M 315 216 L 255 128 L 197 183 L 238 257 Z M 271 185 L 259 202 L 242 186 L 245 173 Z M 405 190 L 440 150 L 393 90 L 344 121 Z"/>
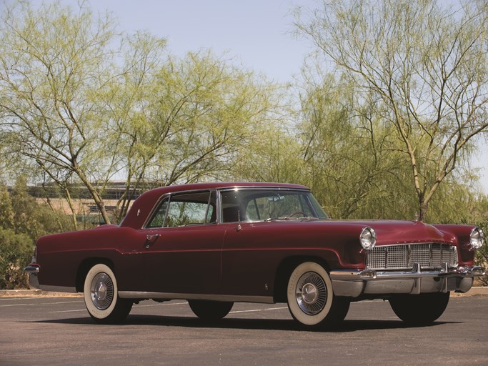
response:
<path id="1" fill-rule="evenodd" d="M 395 295 L 389 299 L 394 313 L 409 325 L 427 325 L 439 318 L 449 303 L 449 292 Z"/>

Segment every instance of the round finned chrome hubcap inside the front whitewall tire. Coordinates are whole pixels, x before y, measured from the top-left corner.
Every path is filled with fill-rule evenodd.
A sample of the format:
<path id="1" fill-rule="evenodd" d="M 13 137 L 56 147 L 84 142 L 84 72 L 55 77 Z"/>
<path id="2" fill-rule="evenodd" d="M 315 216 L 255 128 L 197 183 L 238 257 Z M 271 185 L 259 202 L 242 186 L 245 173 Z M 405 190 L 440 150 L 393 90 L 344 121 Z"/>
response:
<path id="1" fill-rule="evenodd" d="M 317 315 L 327 302 L 327 287 L 315 272 L 307 272 L 297 282 L 297 303 L 307 315 Z"/>

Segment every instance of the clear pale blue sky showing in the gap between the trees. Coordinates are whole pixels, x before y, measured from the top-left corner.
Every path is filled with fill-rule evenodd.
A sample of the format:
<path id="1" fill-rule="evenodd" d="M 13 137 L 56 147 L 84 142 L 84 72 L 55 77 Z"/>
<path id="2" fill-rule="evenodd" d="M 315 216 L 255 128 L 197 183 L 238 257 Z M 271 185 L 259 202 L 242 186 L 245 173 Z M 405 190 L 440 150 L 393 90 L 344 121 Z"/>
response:
<path id="1" fill-rule="evenodd" d="M 40 3 L 40 0 L 32 0 Z M 227 53 L 245 69 L 279 82 L 299 74 L 309 41 L 292 36 L 295 6 L 316 7 L 315 0 L 91 0 L 94 11 L 113 12 L 124 31 L 146 30 L 168 40 L 171 54 L 212 49 Z M 454 1 L 455 2 L 455 1 Z M 74 4 L 77 0 L 63 0 Z M 488 143 L 480 147 L 473 167 L 482 168 L 488 194 Z"/>

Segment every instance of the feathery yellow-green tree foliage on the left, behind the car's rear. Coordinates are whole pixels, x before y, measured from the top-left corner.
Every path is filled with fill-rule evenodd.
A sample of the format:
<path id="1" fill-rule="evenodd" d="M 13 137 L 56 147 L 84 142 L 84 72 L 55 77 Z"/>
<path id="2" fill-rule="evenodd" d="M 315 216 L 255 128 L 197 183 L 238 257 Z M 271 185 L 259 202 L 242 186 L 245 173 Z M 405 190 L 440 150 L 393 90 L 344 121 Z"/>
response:
<path id="1" fill-rule="evenodd" d="M 3 154 L 68 201 L 70 183 L 83 184 L 106 223 L 148 182 L 228 176 L 277 109 L 274 86 L 253 73 L 210 51 L 169 56 L 164 39 L 144 32 L 118 35 L 85 3 L 73 11 L 19 1 L 2 21 Z M 109 217 L 104 189 L 114 177 L 126 189 Z"/>

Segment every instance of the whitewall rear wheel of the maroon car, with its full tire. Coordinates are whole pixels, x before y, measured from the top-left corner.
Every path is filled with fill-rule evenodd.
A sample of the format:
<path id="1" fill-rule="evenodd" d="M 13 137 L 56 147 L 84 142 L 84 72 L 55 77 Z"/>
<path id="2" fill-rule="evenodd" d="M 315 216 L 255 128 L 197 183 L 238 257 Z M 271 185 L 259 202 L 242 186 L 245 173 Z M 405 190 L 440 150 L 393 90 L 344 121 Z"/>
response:
<path id="1" fill-rule="evenodd" d="M 131 300 L 119 297 L 115 274 L 106 264 L 95 264 L 88 271 L 83 296 L 86 310 L 99 324 L 121 322 L 132 308 Z"/>

